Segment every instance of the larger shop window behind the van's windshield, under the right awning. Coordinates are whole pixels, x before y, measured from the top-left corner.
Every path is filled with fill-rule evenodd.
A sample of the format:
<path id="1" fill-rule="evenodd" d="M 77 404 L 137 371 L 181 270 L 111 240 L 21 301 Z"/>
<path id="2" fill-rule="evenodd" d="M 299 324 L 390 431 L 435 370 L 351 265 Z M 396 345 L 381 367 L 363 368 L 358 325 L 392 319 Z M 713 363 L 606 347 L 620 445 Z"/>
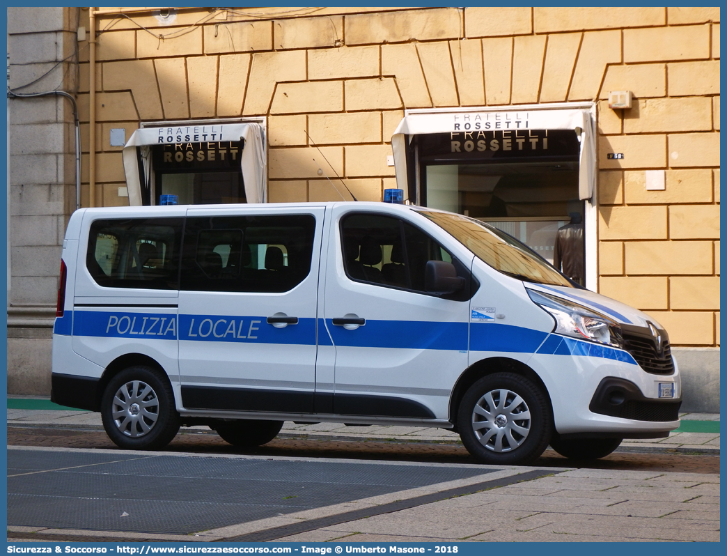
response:
<path id="1" fill-rule="evenodd" d="M 575 131 L 431 133 L 414 141 L 423 206 L 489 222 L 558 262 L 558 230 L 582 223 L 585 211 Z"/>

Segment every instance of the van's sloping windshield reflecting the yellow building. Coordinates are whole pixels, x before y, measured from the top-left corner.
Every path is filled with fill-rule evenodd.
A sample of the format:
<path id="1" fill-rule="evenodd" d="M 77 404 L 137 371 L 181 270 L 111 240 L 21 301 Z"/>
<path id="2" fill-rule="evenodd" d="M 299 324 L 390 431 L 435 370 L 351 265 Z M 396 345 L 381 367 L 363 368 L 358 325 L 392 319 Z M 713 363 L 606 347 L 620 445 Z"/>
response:
<path id="1" fill-rule="evenodd" d="M 449 232 L 493 269 L 526 282 L 573 287 L 563 275 L 527 245 L 493 226 L 452 213 L 416 211 Z"/>

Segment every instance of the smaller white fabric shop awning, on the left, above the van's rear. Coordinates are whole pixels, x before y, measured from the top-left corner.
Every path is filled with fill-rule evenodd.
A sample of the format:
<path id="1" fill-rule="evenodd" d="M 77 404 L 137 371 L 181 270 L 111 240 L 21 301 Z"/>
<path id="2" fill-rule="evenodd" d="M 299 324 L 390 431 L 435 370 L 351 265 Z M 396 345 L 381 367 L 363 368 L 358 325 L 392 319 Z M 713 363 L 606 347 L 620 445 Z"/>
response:
<path id="1" fill-rule="evenodd" d="M 134 131 L 124 146 L 124 172 L 129 188 L 129 204 L 142 204 L 142 182 L 150 187 L 153 168 L 151 146 L 173 145 L 175 143 L 217 143 L 244 140 L 240 157 L 245 196 L 249 203 L 264 203 L 268 200 L 265 188 L 265 151 L 262 144 L 262 127 L 249 122 L 245 124 L 190 124 L 144 127 Z M 137 156 L 139 154 L 140 156 Z M 140 172 L 139 160 L 142 162 Z"/>

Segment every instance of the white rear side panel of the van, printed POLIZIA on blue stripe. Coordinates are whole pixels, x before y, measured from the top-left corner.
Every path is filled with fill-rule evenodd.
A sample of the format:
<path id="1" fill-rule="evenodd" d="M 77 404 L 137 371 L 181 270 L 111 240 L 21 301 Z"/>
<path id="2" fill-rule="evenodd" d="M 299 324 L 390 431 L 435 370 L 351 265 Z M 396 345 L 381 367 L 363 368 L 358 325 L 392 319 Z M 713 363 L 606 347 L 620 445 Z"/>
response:
<path id="1" fill-rule="evenodd" d="M 137 269 L 140 275 L 149 270 L 153 271 L 154 264 L 161 264 L 160 259 L 148 258 L 148 262 L 137 255 L 142 245 L 148 244 L 143 231 L 134 231 L 134 223 L 159 221 L 172 222 L 177 226 L 177 237 L 181 239 L 183 210 L 169 207 L 171 210 L 159 214 L 151 214 L 149 210 L 86 210 L 83 213 L 82 224 L 79 226 L 79 242 L 74 265 L 73 281 L 69 274 L 66 303 L 72 303 L 73 327 L 71 329 L 74 357 L 74 370 L 68 374 L 73 376 L 96 376 L 100 378 L 108 365 L 119 357 L 128 354 L 140 354 L 156 361 L 169 375 L 172 384 L 178 382 L 178 349 L 177 349 L 177 298 L 178 290 L 158 289 L 149 287 L 135 287 L 136 284 L 126 284 L 126 287 L 109 287 L 108 280 L 113 279 L 116 261 L 112 261 L 102 247 L 90 253 L 90 245 L 100 242 L 101 239 L 91 237 L 92 227 L 95 223 L 109 223 L 101 229 L 105 234 L 113 229 L 113 223 L 119 223 L 119 229 L 126 229 L 129 233 L 137 234 L 133 239 L 121 239 L 109 235 L 105 245 L 112 240 L 122 247 L 125 241 L 126 248 L 134 253 L 126 253 L 130 264 Z M 124 224 L 126 223 L 126 224 Z M 124 228 L 126 226 L 126 228 Z M 121 233 L 121 232 L 119 232 Z M 107 237 L 107 236 L 104 236 Z M 180 245 L 176 246 L 180 250 Z M 160 251 L 161 253 L 161 251 Z M 166 252 L 165 252 L 166 253 Z M 132 256 L 133 255 L 133 256 Z M 161 257 L 163 255 L 157 255 Z M 172 255 L 174 256 L 174 255 Z M 101 268 L 100 263 L 105 268 Z M 121 255 L 119 255 L 121 257 Z M 178 254 L 177 254 L 178 257 Z M 169 255 L 166 256 L 169 260 Z M 89 262 L 90 261 L 90 262 Z M 92 269 L 89 265 L 94 263 Z M 92 276 L 92 270 L 97 274 Z M 133 269 L 126 271 L 131 275 Z M 110 276 L 106 277 L 106 273 Z M 173 273 L 174 274 L 174 273 Z M 123 278 L 123 276 L 121 276 Z M 124 285 L 123 279 L 118 281 Z M 112 282 L 113 283 L 113 282 Z M 145 285 L 140 280 L 139 286 Z M 63 368 L 63 364 L 60 368 Z M 54 373 L 59 371 L 54 366 Z M 86 373 L 86 374 L 84 374 Z"/>

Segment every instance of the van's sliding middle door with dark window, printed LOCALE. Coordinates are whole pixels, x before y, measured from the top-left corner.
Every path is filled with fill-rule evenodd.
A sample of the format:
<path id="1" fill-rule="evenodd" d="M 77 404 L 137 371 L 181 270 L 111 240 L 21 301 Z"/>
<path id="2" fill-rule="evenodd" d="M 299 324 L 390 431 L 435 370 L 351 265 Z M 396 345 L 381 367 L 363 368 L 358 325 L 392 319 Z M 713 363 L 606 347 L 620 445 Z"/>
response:
<path id="1" fill-rule="evenodd" d="M 324 207 L 188 210 L 179 360 L 186 409 L 310 413 Z"/>

